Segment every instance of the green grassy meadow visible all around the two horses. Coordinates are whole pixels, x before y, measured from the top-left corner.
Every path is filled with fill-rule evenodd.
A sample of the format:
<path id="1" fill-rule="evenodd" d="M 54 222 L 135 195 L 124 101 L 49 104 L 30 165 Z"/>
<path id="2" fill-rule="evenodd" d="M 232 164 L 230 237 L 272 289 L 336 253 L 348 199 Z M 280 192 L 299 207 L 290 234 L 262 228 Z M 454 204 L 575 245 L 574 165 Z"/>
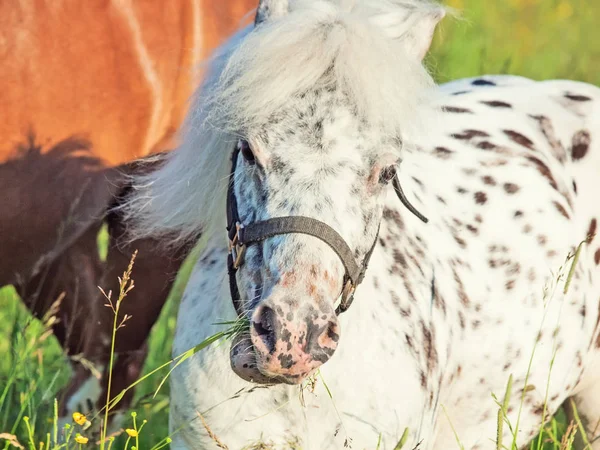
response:
<path id="1" fill-rule="evenodd" d="M 448 0 L 446 3 L 456 8 L 460 17 L 449 17 L 441 25 L 427 59 L 438 82 L 506 73 L 537 80 L 568 78 L 600 86 L 600 1 Z M 99 236 L 99 248 L 105 252 L 105 233 Z M 177 305 L 189 269 L 190 261 L 181 271 L 152 331 L 145 373 L 171 359 Z M 148 421 L 136 444 L 139 449 L 157 448 L 168 435 L 168 383 L 153 398 L 164 375 L 164 371 L 155 374 L 138 386 L 132 411 L 137 414 L 138 426 L 143 420 Z M 52 432 L 54 397 L 68 376 L 67 361 L 54 337 L 45 332 L 40 321 L 31 319 L 14 289 L 1 289 L 0 433 L 15 435 L 26 448 L 39 449 L 40 442 L 46 442 L 47 433 Z M 132 426 L 131 417 L 126 425 Z M 546 434 L 532 448 L 570 448 L 558 443 L 566 428 L 562 413 L 548 427 L 555 441 Z M 489 430 L 490 437 L 495 432 Z M 133 441 L 126 441 L 124 434 L 113 448 L 123 449 L 127 445 L 131 448 Z M 10 445 L 8 440 L 0 439 L 0 449 L 7 450 Z M 376 446 L 373 443 L 374 449 Z M 95 448 L 95 445 L 90 441 L 84 447 Z"/>

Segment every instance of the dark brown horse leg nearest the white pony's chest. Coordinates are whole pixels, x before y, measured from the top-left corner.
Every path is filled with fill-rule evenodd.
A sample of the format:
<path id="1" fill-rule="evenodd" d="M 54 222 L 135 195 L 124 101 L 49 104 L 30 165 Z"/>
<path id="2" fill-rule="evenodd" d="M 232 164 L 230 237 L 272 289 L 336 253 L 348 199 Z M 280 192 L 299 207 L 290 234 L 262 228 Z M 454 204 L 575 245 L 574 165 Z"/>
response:
<path id="1" fill-rule="evenodd" d="M 117 323 L 121 323 L 125 315 L 130 318 L 125 325 L 118 329 L 115 340 L 116 362 L 112 370 L 111 398 L 135 382 L 142 371 L 147 353 L 146 341 L 150 330 L 156 322 L 167 299 L 177 271 L 183 262 L 183 252 L 167 255 L 159 251 L 159 244 L 154 240 L 138 240 L 127 243 L 122 239 L 125 226 L 116 215 L 108 217 L 109 250 L 106 270 L 100 286 L 106 293 L 112 291 L 112 301 L 116 302 L 119 292 L 118 277 L 123 276 L 133 252 L 138 251 L 132 272 L 135 287 L 127 294 L 121 303 Z M 85 405 L 93 400 L 100 409 L 106 404 L 107 370 L 110 358 L 110 342 L 114 322 L 114 313 L 106 307 L 106 299 L 98 298 L 95 302 L 95 327 L 93 338 L 89 341 L 85 354 L 104 369 L 102 377 L 102 392 L 97 392 L 93 383 L 88 381 L 78 383 L 86 386 L 83 391 L 92 393 L 86 397 L 85 392 L 74 392 L 72 396 L 79 403 L 71 402 L 67 414 L 77 408 L 86 409 Z M 87 383 L 87 384 L 86 384 Z M 114 412 L 126 409 L 133 398 L 133 389 L 128 391 Z M 114 424 L 118 425 L 118 424 Z"/>

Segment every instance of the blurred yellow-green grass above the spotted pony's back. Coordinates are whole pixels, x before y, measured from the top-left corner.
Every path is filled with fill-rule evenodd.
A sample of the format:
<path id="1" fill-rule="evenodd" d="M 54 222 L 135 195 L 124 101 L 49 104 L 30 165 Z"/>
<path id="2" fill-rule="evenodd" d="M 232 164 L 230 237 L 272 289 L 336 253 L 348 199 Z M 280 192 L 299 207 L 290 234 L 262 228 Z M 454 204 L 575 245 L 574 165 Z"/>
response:
<path id="1" fill-rule="evenodd" d="M 600 85 L 600 2 L 448 0 L 459 20 L 442 22 L 430 68 L 438 82 L 479 74 Z"/>

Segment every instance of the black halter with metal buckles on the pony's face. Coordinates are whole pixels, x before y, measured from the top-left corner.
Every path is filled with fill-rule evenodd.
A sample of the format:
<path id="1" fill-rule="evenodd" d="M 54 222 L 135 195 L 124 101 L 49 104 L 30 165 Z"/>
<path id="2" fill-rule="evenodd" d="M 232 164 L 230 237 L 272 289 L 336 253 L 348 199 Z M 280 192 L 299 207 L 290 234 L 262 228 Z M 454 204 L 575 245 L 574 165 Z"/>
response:
<path id="1" fill-rule="evenodd" d="M 352 250 L 348 244 L 346 244 L 346 241 L 344 241 L 344 238 L 342 238 L 337 231 L 320 220 L 304 216 L 287 216 L 275 217 L 273 219 L 245 225 L 242 224 L 238 214 L 234 190 L 234 175 L 239 153 L 240 149 L 236 146 L 231 156 L 231 172 L 229 174 L 229 188 L 227 190 L 227 235 L 229 237 L 227 271 L 229 273 L 231 299 L 237 314 L 242 316 L 243 308 L 235 276 L 239 267 L 244 263 L 246 248 L 249 245 L 264 241 L 270 237 L 291 233 L 314 236 L 329 245 L 329 247 L 331 247 L 331 249 L 339 256 L 346 273 L 344 274 L 340 304 L 335 313 L 339 315 L 347 311 L 354 300 L 354 291 L 365 277 L 369 260 L 375 249 L 375 244 L 377 243 L 379 230 L 377 230 L 377 235 L 371 249 L 365 255 L 362 263 L 358 263 L 354 258 Z M 420 214 L 410 204 L 404 195 L 404 192 L 402 192 L 397 176 L 394 177 L 393 185 L 400 201 L 409 209 L 409 211 L 415 214 L 423 222 L 427 223 L 427 218 Z"/>

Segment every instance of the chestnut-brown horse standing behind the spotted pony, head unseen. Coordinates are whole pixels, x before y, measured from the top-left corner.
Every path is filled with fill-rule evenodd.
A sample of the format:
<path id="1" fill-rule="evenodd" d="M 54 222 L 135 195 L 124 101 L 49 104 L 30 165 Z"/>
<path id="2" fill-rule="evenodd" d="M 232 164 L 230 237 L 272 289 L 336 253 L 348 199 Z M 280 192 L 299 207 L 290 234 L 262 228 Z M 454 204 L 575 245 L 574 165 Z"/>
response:
<path id="1" fill-rule="evenodd" d="M 59 342 L 106 368 L 113 316 L 97 286 L 118 292 L 117 277 L 138 249 L 113 394 L 139 377 L 185 252 L 120 242 L 124 226 L 107 211 L 127 189 L 126 175 L 147 167 L 130 161 L 176 145 L 200 62 L 255 3 L 0 2 L 0 287 L 13 284 L 38 317 L 64 295 L 53 327 Z M 103 222 L 105 262 L 96 244 Z M 105 395 L 105 377 L 74 368 L 63 414 Z M 131 393 L 121 406 L 130 401 Z"/>

